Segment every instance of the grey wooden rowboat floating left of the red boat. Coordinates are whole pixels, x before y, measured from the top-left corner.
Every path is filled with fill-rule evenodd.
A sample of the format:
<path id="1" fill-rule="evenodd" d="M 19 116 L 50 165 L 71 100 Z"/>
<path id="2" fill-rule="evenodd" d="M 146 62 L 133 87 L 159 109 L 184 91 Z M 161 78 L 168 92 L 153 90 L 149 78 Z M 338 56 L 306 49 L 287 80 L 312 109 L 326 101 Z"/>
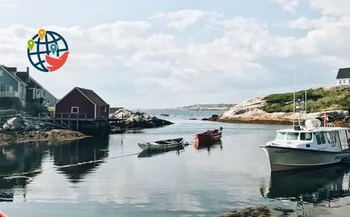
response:
<path id="1" fill-rule="evenodd" d="M 153 142 L 139 142 L 138 145 L 142 150 L 166 150 L 183 146 L 183 142 L 183 138 L 176 138 Z"/>

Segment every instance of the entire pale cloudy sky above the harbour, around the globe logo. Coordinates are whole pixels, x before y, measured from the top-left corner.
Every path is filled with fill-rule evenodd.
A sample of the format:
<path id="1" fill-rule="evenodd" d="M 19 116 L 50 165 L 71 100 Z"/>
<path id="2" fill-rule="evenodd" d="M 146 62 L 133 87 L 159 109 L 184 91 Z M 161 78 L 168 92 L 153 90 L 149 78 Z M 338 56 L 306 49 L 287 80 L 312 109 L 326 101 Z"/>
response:
<path id="1" fill-rule="evenodd" d="M 58 71 L 30 65 L 40 28 L 69 45 Z M 79 86 L 130 109 L 334 86 L 349 48 L 349 0 L 0 0 L 0 64 L 57 98 Z"/>

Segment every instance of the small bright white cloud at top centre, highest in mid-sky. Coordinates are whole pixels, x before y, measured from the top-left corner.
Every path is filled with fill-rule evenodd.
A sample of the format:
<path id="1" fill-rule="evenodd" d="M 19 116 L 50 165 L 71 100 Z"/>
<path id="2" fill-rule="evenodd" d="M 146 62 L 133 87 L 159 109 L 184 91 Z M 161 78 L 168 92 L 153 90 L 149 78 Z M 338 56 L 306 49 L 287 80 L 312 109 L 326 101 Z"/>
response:
<path id="1" fill-rule="evenodd" d="M 169 13 L 156 13 L 150 19 L 164 19 L 167 26 L 183 30 L 193 25 L 205 17 L 209 17 L 211 21 L 222 15 L 217 12 L 205 12 L 200 10 L 181 10 Z"/>

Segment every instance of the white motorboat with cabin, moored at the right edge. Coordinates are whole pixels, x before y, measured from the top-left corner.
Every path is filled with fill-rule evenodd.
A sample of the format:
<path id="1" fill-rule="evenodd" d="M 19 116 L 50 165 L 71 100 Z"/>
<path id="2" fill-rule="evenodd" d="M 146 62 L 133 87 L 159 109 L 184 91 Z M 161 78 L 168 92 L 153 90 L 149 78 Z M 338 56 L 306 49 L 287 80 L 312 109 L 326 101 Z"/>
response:
<path id="1" fill-rule="evenodd" d="M 305 126 L 278 130 L 275 140 L 260 145 L 271 171 L 339 163 L 349 157 L 350 128 L 321 127 L 318 119 Z"/>

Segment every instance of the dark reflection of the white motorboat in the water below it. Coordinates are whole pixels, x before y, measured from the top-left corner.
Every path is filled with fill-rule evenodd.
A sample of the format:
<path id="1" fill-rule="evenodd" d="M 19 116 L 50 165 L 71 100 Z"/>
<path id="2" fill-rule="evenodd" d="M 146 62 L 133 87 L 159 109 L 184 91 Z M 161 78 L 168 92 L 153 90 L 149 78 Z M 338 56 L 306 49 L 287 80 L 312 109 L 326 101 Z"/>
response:
<path id="1" fill-rule="evenodd" d="M 270 185 L 260 189 L 263 197 L 320 203 L 350 195 L 349 167 L 336 165 L 308 171 L 272 172 Z"/>

